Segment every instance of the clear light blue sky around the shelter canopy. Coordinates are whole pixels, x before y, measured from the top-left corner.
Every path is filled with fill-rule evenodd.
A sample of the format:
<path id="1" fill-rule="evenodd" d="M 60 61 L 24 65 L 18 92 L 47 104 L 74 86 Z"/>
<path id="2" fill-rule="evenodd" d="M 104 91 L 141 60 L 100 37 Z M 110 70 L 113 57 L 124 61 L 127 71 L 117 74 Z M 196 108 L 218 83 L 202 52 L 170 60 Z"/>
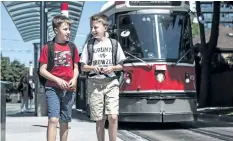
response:
<path id="1" fill-rule="evenodd" d="M 98 13 L 106 1 L 86 1 L 77 35 L 87 35 L 90 31 L 89 18 L 91 15 Z M 78 46 L 79 51 L 85 41 L 85 36 L 76 36 L 74 43 Z M 33 57 L 33 43 L 39 42 L 34 40 L 32 42 L 24 42 L 16 29 L 11 17 L 7 13 L 4 5 L 1 3 L 1 48 L 3 56 L 9 56 L 11 61 L 14 59 L 19 60 L 28 66 L 30 60 L 34 60 Z M 14 50 L 26 50 L 26 51 L 9 51 Z"/>

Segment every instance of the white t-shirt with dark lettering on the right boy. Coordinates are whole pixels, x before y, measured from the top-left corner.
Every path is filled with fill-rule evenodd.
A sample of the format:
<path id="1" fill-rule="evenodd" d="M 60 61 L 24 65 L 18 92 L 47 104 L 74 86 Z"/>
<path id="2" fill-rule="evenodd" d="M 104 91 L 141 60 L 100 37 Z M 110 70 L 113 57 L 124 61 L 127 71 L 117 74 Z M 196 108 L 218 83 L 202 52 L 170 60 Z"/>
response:
<path id="1" fill-rule="evenodd" d="M 118 43 L 118 49 L 117 49 L 117 58 L 116 58 L 116 63 L 120 63 L 121 61 L 125 60 L 125 54 L 121 48 L 121 45 Z M 87 51 L 87 44 L 85 44 L 81 56 L 81 63 L 87 64 L 88 63 L 88 51 Z M 93 60 L 92 60 L 92 65 L 93 66 L 98 66 L 98 67 L 108 67 L 108 66 L 113 66 L 112 62 L 112 43 L 110 39 L 106 38 L 102 42 L 98 42 L 95 40 L 94 46 L 93 46 Z M 90 72 L 90 74 L 95 73 L 93 71 Z M 110 74 L 107 74 L 109 77 L 114 77 L 115 73 L 112 72 Z M 106 76 L 104 75 L 96 75 L 93 76 L 92 78 L 98 78 L 98 79 L 103 79 Z"/>

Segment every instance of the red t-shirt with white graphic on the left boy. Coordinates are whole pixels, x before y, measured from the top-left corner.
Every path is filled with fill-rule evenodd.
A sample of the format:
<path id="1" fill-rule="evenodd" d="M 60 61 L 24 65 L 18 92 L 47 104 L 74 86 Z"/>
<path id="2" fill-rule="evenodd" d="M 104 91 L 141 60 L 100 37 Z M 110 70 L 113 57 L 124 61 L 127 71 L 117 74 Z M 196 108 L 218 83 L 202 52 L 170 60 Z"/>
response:
<path id="1" fill-rule="evenodd" d="M 79 62 L 79 54 L 78 49 L 75 49 L 74 54 L 74 62 Z M 42 49 L 40 59 L 40 63 L 48 64 L 48 46 L 45 45 Z M 73 69 L 73 60 L 72 55 L 70 51 L 70 47 L 68 44 L 62 45 L 62 44 L 54 44 L 54 67 L 50 71 L 50 73 L 56 77 L 59 77 L 67 83 L 73 78 L 74 75 L 74 69 Z M 45 84 L 45 86 L 53 86 L 60 88 L 56 82 L 48 80 Z"/>

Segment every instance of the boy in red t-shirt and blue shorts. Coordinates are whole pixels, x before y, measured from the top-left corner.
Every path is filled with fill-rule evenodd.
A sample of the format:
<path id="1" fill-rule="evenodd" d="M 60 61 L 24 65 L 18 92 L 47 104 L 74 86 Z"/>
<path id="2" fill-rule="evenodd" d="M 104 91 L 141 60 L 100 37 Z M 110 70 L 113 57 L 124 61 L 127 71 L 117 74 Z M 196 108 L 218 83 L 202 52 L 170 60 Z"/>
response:
<path id="1" fill-rule="evenodd" d="M 47 71 L 48 45 L 45 45 L 40 55 L 40 75 L 47 79 L 45 94 L 48 104 L 47 140 L 56 140 L 56 128 L 60 122 L 60 141 L 67 141 L 68 122 L 71 121 L 72 105 L 74 104 L 78 77 L 78 50 L 75 57 L 68 45 L 71 21 L 65 16 L 56 16 L 52 20 L 54 39 L 54 67 Z M 74 66 L 74 67 L 73 67 Z"/>

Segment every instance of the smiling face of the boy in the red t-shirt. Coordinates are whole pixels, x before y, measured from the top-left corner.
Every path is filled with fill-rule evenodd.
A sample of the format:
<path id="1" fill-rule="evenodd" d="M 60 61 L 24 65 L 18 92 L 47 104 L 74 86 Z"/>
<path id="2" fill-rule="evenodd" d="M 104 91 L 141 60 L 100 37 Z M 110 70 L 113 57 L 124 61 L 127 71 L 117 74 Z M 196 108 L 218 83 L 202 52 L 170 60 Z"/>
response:
<path id="1" fill-rule="evenodd" d="M 70 25 L 62 23 L 60 27 L 55 28 L 56 36 L 61 41 L 69 41 L 70 39 Z"/>

